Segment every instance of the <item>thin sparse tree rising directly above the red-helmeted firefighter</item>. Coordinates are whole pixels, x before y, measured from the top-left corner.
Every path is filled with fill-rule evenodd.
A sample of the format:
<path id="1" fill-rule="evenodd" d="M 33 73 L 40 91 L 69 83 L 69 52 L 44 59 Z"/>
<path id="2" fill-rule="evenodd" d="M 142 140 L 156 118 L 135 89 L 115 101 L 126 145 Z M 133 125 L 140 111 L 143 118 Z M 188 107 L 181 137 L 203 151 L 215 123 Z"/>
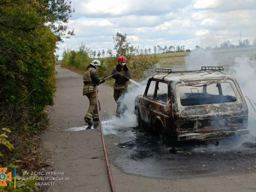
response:
<path id="1" fill-rule="evenodd" d="M 123 35 L 119 32 L 116 33 L 115 36 L 113 36 L 113 44 L 114 48 L 116 50 L 116 55 L 126 55 L 129 51 L 129 42 L 126 39 L 126 34 Z"/>

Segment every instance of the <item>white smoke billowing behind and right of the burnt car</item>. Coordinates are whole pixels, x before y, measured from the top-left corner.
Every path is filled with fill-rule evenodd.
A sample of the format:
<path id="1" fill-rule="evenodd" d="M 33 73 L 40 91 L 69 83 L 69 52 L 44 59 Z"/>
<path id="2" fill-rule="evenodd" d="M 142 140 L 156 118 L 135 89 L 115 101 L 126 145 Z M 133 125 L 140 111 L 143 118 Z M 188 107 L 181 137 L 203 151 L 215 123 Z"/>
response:
<path id="1" fill-rule="evenodd" d="M 188 70 L 199 70 L 203 66 L 222 66 L 224 73 L 237 80 L 249 109 L 248 129 L 256 136 L 256 113 L 252 106 L 253 104 L 256 108 L 256 61 L 250 59 L 252 55 L 247 55 L 246 52 L 241 56 L 237 55 L 241 55 L 241 49 L 230 49 L 228 53 L 221 50 L 197 49 L 185 58 L 185 64 Z"/>

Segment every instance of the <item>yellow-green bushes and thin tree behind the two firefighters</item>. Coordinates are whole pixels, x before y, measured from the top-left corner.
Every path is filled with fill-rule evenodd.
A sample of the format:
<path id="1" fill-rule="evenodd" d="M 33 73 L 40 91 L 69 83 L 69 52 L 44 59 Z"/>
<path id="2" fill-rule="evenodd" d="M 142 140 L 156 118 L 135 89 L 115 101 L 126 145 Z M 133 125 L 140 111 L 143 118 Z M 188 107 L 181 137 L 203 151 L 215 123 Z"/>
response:
<path id="1" fill-rule="evenodd" d="M 126 34 L 117 32 L 113 36 L 113 51 L 108 52 L 108 56 L 101 58 L 98 55 L 100 61 L 102 61 L 102 69 L 99 71 L 100 77 L 109 76 L 113 67 L 118 64 L 118 57 L 125 55 L 128 60 L 129 67 L 131 68 L 131 74 L 133 79 L 143 79 L 145 70 L 153 67 L 155 63 L 159 61 L 156 55 L 149 55 L 145 52 L 136 52 L 134 46 L 127 40 Z M 115 54 L 113 54 L 113 52 Z M 81 44 L 79 50 L 64 50 L 61 60 L 61 66 L 69 69 L 76 69 L 83 73 L 90 62 L 96 58 L 96 55 L 90 55 L 91 50 Z"/>

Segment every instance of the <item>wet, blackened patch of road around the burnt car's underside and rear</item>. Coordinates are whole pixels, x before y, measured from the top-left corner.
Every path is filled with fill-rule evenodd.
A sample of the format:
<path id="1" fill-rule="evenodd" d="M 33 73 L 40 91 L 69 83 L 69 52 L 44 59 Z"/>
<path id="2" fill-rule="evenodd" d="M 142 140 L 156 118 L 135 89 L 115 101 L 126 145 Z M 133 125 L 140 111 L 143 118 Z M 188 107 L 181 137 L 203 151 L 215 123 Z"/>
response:
<path id="1" fill-rule="evenodd" d="M 127 132 L 134 134 L 129 140 L 124 139 Z M 252 136 L 220 140 L 218 146 L 214 143 L 183 143 L 172 151 L 172 146 L 166 146 L 147 131 L 125 128 L 119 132 L 119 141 L 125 142 L 117 143 L 121 152 L 114 162 L 130 174 L 180 178 L 256 169 L 256 137 Z"/>

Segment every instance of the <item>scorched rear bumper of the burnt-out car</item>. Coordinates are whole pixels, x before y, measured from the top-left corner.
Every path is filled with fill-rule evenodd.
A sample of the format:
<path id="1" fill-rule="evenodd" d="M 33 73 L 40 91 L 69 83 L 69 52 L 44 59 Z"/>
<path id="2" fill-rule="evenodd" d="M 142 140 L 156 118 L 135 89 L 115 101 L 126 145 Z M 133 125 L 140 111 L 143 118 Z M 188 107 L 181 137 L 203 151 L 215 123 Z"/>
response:
<path id="1" fill-rule="evenodd" d="M 246 135 L 248 134 L 248 130 L 237 130 L 237 131 L 216 131 L 209 133 L 195 133 L 189 132 L 180 134 L 177 136 L 177 141 L 189 141 L 189 140 L 197 140 L 197 141 L 209 141 L 209 140 L 220 140 L 229 138 L 235 135 Z"/>

